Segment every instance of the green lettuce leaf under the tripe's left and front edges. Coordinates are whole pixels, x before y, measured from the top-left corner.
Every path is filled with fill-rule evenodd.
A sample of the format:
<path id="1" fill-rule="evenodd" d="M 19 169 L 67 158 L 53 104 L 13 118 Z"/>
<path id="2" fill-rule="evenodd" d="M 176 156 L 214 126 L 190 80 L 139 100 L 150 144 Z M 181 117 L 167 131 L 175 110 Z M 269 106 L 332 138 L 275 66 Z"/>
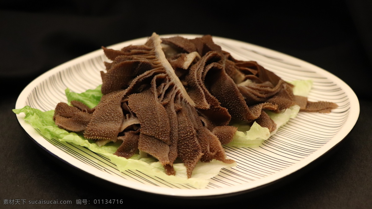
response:
<path id="1" fill-rule="evenodd" d="M 89 103 L 93 105 L 97 102 L 99 97 L 100 89 L 88 90 L 84 93 L 77 94 L 66 90 L 68 101 L 79 100 L 85 101 L 92 99 Z M 81 95 L 81 97 L 80 97 Z M 93 107 L 93 106 L 90 106 Z M 131 158 L 126 159 L 124 157 L 119 157 L 114 155 L 116 149 L 119 145 L 115 143 L 108 143 L 104 146 L 99 147 L 93 140 L 88 140 L 81 134 L 74 132 L 68 132 L 64 129 L 58 128 L 53 120 L 54 110 L 49 110 L 43 112 L 39 109 L 34 109 L 30 106 L 25 106 L 21 109 L 13 109 L 16 114 L 24 113 L 25 120 L 35 129 L 39 130 L 39 133 L 48 139 L 58 139 L 62 142 L 73 143 L 90 149 L 97 154 L 102 154 L 108 157 L 112 163 L 114 163 L 118 170 L 124 172 L 125 170 L 138 170 L 150 177 L 159 177 L 160 179 L 166 180 L 173 184 L 188 184 L 195 188 L 205 188 L 209 183 L 209 179 L 217 176 L 222 168 L 228 168 L 236 166 L 234 164 L 225 164 L 221 161 L 212 160 L 209 163 L 199 162 L 196 164 L 192 177 L 187 178 L 186 167 L 183 163 L 174 164 L 174 170 L 176 170 L 176 176 L 168 176 L 164 172 L 163 165 L 158 162 L 155 158 L 151 157 L 141 157 L 140 154 L 134 154 Z"/>

